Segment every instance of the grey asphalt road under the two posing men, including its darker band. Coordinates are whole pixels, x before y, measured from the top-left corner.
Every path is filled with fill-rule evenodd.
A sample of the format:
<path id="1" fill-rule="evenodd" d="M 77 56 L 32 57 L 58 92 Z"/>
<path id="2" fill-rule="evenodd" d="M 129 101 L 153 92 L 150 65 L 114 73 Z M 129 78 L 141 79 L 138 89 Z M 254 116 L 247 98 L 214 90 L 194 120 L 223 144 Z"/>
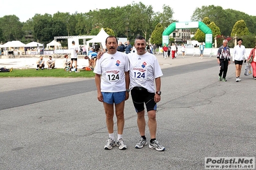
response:
<path id="1" fill-rule="evenodd" d="M 0 169 L 205 169 L 205 157 L 255 157 L 256 81 L 243 75 L 235 82 L 230 65 L 221 82 L 218 69 L 216 60 L 163 69 L 162 152 L 134 148 L 140 136 L 131 98 L 128 149 L 103 149 L 108 133 L 94 79 L 1 91 Z"/>

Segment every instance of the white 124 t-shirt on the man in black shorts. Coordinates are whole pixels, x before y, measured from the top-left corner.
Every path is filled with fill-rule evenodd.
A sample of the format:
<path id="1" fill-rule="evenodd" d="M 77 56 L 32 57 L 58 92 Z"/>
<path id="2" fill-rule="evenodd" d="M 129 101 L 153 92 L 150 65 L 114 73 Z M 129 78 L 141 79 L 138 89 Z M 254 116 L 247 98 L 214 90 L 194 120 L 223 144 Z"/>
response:
<path id="1" fill-rule="evenodd" d="M 155 93 L 154 82 L 163 75 L 155 55 L 146 52 L 139 56 L 137 53 L 128 54 L 130 61 L 130 89 L 143 87 L 149 93 Z"/>

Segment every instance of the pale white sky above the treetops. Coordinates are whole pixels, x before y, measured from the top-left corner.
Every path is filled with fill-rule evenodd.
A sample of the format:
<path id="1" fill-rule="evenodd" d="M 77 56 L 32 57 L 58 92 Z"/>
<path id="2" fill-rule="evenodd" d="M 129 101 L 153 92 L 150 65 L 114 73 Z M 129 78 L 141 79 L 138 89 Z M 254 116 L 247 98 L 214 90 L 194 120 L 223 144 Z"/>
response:
<path id="1" fill-rule="evenodd" d="M 26 3 L 25 3 L 26 2 Z M 65 3 L 68 2 L 68 3 Z M 53 0 L 44 0 L 44 1 L 20 1 L 12 0 L 12 6 L 10 6 L 10 1 L 3 0 L 0 3 L 1 11 L 0 17 L 4 15 L 16 15 L 21 22 L 26 22 L 26 20 L 31 19 L 36 13 L 44 15 L 45 13 L 53 15 L 57 12 L 69 12 L 73 14 L 75 12 L 85 13 L 90 10 L 96 9 L 105 9 L 116 6 L 126 6 L 129 1 L 53 1 Z M 173 19 L 178 20 L 179 22 L 190 21 L 191 16 L 196 10 L 196 8 L 201 8 L 201 6 L 221 6 L 224 10 L 230 8 L 232 10 L 238 10 L 248 15 L 256 16 L 255 6 L 248 1 L 243 3 L 232 3 L 223 0 L 214 0 L 214 1 L 150 1 L 150 0 L 139 0 L 139 1 L 130 1 L 130 3 L 143 3 L 146 6 L 153 6 L 154 12 L 162 12 L 163 4 L 170 6 L 173 9 Z M 160 3 L 159 3 L 160 2 Z M 224 3 L 223 3 L 224 2 Z M 114 17 L 114 16 L 113 16 Z"/>

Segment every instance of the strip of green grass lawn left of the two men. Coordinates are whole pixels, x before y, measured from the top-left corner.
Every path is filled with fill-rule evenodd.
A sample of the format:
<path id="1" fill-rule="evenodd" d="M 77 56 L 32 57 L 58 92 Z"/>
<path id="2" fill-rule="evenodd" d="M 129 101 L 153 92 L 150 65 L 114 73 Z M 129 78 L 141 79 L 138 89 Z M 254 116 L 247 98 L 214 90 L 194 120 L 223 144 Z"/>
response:
<path id="1" fill-rule="evenodd" d="M 65 72 L 63 68 L 51 70 L 13 69 L 12 72 L 0 73 L 0 77 L 94 77 L 93 71 L 80 70 L 80 72 Z"/>

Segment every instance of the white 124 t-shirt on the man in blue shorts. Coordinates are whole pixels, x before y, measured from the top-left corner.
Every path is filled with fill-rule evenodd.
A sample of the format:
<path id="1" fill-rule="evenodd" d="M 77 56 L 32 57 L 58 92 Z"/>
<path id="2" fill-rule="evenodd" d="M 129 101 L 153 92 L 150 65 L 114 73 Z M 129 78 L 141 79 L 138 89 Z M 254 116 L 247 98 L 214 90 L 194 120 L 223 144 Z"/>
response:
<path id="1" fill-rule="evenodd" d="M 124 72 L 129 71 L 129 60 L 124 52 L 105 53 L 96 61 L 94 73 L 101 75 L 101 92 L 126 91 Z"/>

